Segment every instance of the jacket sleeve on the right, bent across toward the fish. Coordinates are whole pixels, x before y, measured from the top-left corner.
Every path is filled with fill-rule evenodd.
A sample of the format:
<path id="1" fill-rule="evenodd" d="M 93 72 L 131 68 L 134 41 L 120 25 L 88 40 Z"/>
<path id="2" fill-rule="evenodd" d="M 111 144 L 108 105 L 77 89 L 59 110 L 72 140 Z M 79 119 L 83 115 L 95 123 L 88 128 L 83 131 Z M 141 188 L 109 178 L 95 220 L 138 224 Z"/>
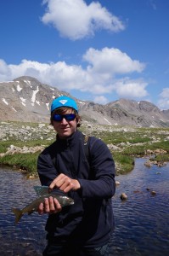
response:
<path id="1" fill-rule="evenodd" d="M 110 149 L 100 139 L 91 137 L 90 166 L 93 179 L 81 179 L 82 197 L 110 198 L 115 194 L 115 162 Z"/>

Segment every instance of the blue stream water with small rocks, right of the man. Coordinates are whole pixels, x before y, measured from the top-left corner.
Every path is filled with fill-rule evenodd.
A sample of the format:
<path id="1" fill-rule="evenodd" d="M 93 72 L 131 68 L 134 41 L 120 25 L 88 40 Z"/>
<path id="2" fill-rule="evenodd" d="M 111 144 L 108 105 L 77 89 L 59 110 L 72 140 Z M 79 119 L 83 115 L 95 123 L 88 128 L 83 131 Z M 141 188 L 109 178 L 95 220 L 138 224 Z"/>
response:
<path id="1" fill-rule="evenodd" d="M 169 255 L 169 164 L 149 168 L 144 161 L 136 159 L 131 173 L 115 178 L 121 185 L 113 200 L 112 255 Z M 127 201 L 121 201 L 122 192 Z"/>

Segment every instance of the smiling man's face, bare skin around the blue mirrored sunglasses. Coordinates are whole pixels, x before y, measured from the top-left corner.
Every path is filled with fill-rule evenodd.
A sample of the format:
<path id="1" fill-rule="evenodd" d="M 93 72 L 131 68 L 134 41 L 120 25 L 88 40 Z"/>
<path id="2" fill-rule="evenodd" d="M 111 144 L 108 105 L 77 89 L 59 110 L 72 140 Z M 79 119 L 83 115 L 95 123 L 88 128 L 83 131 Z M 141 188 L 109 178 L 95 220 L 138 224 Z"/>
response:
<path id="1" fill-rule="evenodd" d="M 72 109 L 67 109 L 64 114 L 73 113 Z M 54 130 L 58 133 L 59 137 L 69 137 L 76 131 L 76 118 L 73 120 L 66 120 L 63 118 L 61 121 L 54 121 Z"/>

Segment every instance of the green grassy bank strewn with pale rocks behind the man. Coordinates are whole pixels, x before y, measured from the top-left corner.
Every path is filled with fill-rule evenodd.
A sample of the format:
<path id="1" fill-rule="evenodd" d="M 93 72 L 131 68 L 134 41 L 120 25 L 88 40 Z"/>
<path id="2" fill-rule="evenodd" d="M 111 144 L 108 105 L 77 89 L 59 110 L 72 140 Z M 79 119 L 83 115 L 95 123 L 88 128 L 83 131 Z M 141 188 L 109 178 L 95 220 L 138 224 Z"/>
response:
<path id="1" fill-rule="evenodd" d="M 18 139 L 15 134 L 8 134 L 7 139 L 3 137 L 0 141 L 0 164 L 20 168 L 28 176 L 37 176 L 37 156 L 40 154 L 40 150 L 36 153 L 4 153 L 8 151 L 11 145 L 20 148 L 47 147 L 54 142 L 55 132 L 53 130 L 48 132 L 47 125 L 45 125 L 44 129 L 36 130 L 37 124 L 18 122 L 14 123 L 14 125 L 12 123 L 8 124 L 12 125 L 16 131 L 19 131 L 20 127 L 24 129 L 24 125 L 29 125 L 34 133 L 32 133 L 31 137 L 27 137 L 26 140 Z M 31 130 L 31 128 L 29 129 Z M 117 174 L 131 172 L 134 166 L 134 158 L 147 155 L 147 150 L 151 151 L 149 160 L 169 161 L 169 128 L 116 127 L 110 125 L 92 125 L 92 127 L 88 128 L 82 125 L 80 130 L 90 136 L 99 137 L 104 143 L 108 144 L 115 160 Z M 36 135 L 36 132 L 39 136 L 42 136 L 41 139 Z M 156 154 L 155 150 L 157 149 L 165 151 Z"/>

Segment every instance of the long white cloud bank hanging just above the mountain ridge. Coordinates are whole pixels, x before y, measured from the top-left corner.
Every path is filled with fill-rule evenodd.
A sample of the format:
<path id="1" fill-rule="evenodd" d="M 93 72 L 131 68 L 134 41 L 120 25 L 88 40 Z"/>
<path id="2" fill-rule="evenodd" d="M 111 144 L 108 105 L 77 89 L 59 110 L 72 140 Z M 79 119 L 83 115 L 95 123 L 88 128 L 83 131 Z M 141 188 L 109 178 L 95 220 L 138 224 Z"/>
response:
<path id="1" fill-rule="evenodd" d="M 106 95 L 115 92 L 119 97 L 147 96 L 143 79 L 128 78 L 127 73 L 141 73 L 144 64 L 132 60 L 119 49 L 88 49 L 83 55 L 87 67 L 68 65 L 65 61 L 56 63 L 39 63 L 23 60 L 19 65 L 0 61 L 1 81 L 17 79 L 20 76 L 31 76 L 44 84 L 57 87 L 59 90 L 79 90 L 93 95 L 94 102 L 106 103 Z"/>

